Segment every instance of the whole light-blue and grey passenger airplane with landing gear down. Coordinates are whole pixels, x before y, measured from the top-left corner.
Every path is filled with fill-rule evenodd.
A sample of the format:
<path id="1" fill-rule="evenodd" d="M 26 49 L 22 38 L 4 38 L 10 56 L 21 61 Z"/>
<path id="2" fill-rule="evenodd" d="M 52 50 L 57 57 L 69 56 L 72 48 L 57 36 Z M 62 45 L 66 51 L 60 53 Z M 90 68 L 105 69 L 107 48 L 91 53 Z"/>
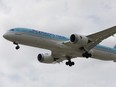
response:
<path id="1" fill-rule="evenodd" d="M 54 64 L 64 60 L 66 65 L 73 66 L 73 58 L 94 58 L 116 62 L 114 48 L 100 45 L 104 39 L 116 33 L 116 26 L 90 35 L 71 34 L 70 37 L 51 34 L 29 28 L 12 28 L 3 37 L 20 48 L 19 44 L 50 50 L 51 53 L 38 54 L 41 63 Z"/>

